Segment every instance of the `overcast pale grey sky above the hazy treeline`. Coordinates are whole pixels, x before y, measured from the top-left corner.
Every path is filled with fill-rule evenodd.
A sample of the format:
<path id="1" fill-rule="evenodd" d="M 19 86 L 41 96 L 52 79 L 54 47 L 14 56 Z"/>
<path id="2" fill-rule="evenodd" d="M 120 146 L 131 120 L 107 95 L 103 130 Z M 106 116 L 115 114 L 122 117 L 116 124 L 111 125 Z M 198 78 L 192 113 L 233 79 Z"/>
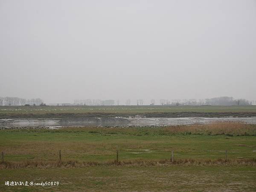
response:
<path id="1" fill-rule="evenodd" d="M 0 96 L 256 100 L 256 0 L 0 0 Z"/>

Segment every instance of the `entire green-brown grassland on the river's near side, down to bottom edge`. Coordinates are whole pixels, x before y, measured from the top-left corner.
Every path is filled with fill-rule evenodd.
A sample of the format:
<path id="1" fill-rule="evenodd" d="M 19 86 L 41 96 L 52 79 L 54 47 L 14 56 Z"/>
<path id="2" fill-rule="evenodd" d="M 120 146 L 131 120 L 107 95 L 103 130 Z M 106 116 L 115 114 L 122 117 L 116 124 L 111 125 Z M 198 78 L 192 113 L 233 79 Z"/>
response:
<path id="1" fill-rule="evenodd" d="M 5 129 L 0 151 L 3 191 L 256 190 L 256 125 Z M 4 186 L 5 181 L 60 185 Z"/>

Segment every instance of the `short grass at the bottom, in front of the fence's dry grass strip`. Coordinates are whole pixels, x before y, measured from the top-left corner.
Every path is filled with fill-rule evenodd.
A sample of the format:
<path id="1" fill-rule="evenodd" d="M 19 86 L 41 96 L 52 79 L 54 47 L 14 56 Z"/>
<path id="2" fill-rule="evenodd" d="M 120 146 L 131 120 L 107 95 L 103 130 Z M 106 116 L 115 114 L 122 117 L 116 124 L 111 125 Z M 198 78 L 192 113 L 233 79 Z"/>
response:
<path id="1" fill-rule="evenodd" d="M 4 186 L 5 181 L 58 181 L 58 186 Z M 97 166 L 5 169 L 1 191 L 255 191 L 255 166 Z"/>

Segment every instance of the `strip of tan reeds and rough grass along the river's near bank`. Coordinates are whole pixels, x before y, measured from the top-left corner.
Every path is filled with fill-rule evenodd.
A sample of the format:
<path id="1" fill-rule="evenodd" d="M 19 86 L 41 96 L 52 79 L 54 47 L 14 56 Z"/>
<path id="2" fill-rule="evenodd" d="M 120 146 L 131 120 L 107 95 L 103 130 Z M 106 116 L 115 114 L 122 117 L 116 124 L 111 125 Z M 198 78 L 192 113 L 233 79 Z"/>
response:
<path id="1" fill-rule="evenodd" d="M 59 127 L 58 129 L 47 129 L 44 127 L 12 127 L 9 129 L 2 129 L 4 134 L 21 135 L 28 133 L 83 133 L 101 135 L 101 136 L 175 136 L 175 135 L 224 135 L 224 136 L 256 136 L 255 124 L 244 123 L 212 123 L 205 125 L 177 125 L 177 126 L 140 126 L 140 127 Z M 38 135 L 39 136 L 39 135 Z M 56 138 L 58 140 L 58 138 Z"/>

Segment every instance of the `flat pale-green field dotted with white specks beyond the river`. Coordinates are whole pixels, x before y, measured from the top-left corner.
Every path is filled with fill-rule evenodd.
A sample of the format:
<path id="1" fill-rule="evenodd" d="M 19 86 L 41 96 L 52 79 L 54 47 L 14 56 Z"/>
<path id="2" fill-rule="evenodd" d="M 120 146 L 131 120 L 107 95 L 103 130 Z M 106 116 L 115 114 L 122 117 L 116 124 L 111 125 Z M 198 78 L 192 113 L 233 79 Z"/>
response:
<path id="1" fill-rule="evenodd" d="M 256 106 L 0 106 L 0 118 L 256 116 Z"/>

